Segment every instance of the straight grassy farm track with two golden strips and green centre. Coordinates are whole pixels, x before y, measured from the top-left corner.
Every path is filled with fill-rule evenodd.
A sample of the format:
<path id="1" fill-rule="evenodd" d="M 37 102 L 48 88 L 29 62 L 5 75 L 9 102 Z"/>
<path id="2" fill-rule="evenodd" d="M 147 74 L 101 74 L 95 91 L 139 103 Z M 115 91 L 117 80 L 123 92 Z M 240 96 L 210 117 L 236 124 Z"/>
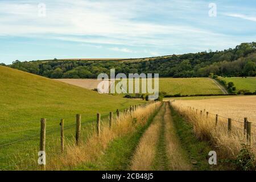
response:
<path id="1" fill-rule="evenodd" d="M 190 170 L 191 164 L 176 136 L 171 109 L 164 102 L 143 134 L 131 164 L 132 170 Z"/>

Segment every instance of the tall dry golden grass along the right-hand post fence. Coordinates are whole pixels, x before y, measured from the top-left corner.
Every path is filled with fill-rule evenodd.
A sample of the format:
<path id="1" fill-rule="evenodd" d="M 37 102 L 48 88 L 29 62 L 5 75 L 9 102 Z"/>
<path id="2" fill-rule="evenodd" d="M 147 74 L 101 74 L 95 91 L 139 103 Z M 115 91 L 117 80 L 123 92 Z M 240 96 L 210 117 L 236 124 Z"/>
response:
<path id="1" fill-rule="evenodd" d="M 228 118 L 218 117 L 216 114 L 181 105 L 180 102 L 172 102 L 172 107 L 183 116 L 188 122 L 192 123 L 193 130 L 197 138 L 210 141 L 218 149 L 218 155 L 227 158 L 235 158 L 246 144 L 246 135 L 243 130 L 243 123 L 232 121 L 232 130 L 228 130 Z M 251 149 L 256 154 L 255 135 L 252 135 Z"/>

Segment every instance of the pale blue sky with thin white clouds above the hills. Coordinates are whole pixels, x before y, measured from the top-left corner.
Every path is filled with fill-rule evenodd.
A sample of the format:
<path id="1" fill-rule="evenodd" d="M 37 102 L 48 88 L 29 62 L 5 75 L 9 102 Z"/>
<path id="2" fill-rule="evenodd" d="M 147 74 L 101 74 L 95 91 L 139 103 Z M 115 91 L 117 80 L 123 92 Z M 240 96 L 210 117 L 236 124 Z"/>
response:
<path id="1" fill-rule="evenodd" d="M 216 16 L 209 16 L 210 3 Z M 6 64 L 151 57 L 255 41 L 253 1 L 0 0 L 0 63 Z"/>

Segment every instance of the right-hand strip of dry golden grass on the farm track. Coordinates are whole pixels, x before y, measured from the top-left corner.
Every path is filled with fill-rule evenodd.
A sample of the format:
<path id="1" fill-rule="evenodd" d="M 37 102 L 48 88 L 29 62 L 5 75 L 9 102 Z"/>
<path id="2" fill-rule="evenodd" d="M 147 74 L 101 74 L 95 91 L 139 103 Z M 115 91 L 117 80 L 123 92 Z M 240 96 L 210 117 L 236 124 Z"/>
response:
<path id="1" fill-rule="evenodd" d="M 184 151 L 181 149 L 179 139 L 177 139 L 174 123 L 171 117 L 170 106 L 166 104 L 164 114 L 166 154 L 169 160 L 170 170 L 191 170 L 191 164 L 185 159 Z"/>

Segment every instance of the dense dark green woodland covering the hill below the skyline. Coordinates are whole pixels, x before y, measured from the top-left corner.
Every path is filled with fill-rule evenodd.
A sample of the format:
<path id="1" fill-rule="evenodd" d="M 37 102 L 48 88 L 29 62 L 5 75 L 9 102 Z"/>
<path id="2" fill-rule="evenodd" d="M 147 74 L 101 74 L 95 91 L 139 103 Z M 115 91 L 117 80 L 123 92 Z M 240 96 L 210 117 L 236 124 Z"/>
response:
<path id="1" fill-rule="evenodd" d="M 97 78 L 100 73 L 159 73 L 160 77 L 256 76 L 256 43 L 216 52 L 187 53 L 141 61 L 14 61 L 11 68 L 49 78 Z"/>

